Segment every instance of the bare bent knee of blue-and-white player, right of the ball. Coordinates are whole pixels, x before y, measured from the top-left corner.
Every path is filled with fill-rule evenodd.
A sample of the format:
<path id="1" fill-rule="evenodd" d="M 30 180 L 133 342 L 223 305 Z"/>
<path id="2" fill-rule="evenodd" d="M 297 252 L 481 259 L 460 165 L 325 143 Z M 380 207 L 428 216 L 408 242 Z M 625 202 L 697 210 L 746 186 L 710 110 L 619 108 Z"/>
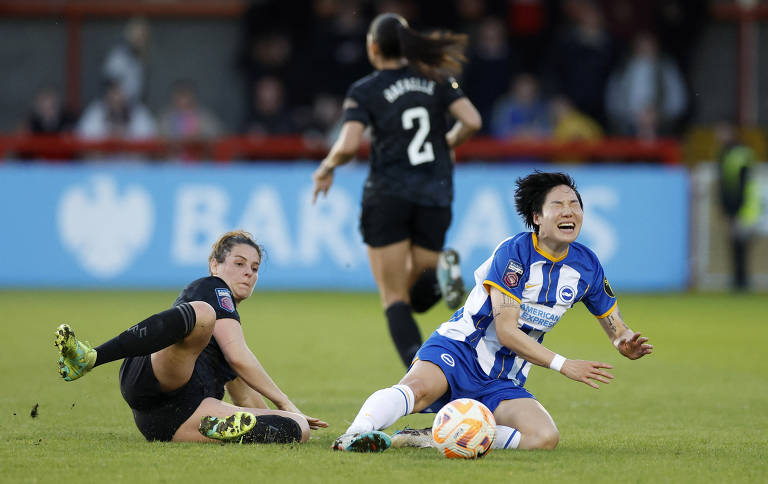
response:
<path id="1" fill-rule="evenodd" d="M 560 432 L 549 412 L 533 398 L 504 400 L 493 412 L 496 423 L 520 432 L 518 449 L 554 449 Z"/>

